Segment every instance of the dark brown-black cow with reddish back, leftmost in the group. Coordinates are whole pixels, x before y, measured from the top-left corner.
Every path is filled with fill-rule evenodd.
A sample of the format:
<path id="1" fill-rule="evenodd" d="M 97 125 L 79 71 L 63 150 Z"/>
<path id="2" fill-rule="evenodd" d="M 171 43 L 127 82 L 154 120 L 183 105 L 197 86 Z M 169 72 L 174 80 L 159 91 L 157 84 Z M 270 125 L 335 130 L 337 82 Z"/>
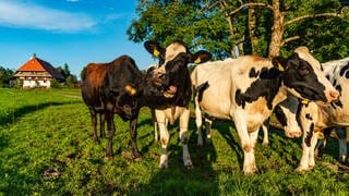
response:
<path id="1" fill-rule="evenodd" d="M 108 63 L 89 63 L 86 66 L 82 97 L 91 113 L 96 140 L 97 114 L 100 115 L 100 136 L 104 136 L 105 120 L 107 121 L 109 139 L 106 159 L 112 157 L 115 113 L 122 120 L 130 121 L 132 155 L 141 158 L 136 145 L 137 115 L 141 107 L 157 103 L 157 99 L 164 97 L 159 79 L 142 74 L 131 57 L 121 56 Z"/>

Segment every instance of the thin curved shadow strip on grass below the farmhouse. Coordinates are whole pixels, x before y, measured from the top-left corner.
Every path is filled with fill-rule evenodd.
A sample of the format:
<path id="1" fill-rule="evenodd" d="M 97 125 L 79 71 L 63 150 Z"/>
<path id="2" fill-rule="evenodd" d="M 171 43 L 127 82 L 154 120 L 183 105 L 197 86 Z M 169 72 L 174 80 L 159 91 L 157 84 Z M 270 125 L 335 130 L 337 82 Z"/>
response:
<path id="1" fill-rule="evenodd" d="M 70 103 L 75 103 L 75 102 L 81 102 L 81 101 L 69 101 L 69 102 L 52 101 L 52 102 L 45 102 L 45 103 L 40 103 L 40 105 L 24 106 L 24 107 L 12 110 L 11 113 L 8 115 L 0 117 L 0 126 L 13 124 L 13 123 L 15 123 L 16 119 L 23 118 L 24 115 L 26 115 L 28 113 L 33 113 L 38 110 L 43 110 L 47 107 L 70 105 Z"/>

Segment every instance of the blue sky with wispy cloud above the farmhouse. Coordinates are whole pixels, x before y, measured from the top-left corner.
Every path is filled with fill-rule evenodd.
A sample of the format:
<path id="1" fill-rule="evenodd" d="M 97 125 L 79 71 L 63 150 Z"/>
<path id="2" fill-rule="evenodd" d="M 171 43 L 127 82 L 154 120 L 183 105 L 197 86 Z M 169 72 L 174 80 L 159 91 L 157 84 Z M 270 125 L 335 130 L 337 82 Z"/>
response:
<path id="1" fill-rule="evenodd" d="M 155 60 L 125 34 L 136 0 L 0 0 L 0 66 L 16 70 L 34 53 L 80 76 L 88 62 L 131 56 L 141 70 Z"/>

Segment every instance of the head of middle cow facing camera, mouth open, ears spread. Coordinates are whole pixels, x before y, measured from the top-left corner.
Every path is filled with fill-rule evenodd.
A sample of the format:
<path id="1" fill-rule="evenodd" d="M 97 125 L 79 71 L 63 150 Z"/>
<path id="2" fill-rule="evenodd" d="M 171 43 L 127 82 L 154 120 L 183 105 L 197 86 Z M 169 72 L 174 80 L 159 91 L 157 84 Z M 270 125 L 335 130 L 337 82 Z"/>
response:
<path id="1" fill-rule="evenodd" d="M 155 85 L 161 88 L 166 98 L 174 97 L 177 91 L 183 88 L 183 84 L 190 83 L 186 68 L 189 63 L 205 62 L 212 57 L 204 50 L 191 53 L 185 44 L 180 40 L 172 41 L 166 48 L 155 41 L 146 41 L 144 47 L 154 57 L 159 58 L 159 64 L 148 70 L 148 76 Z"/>

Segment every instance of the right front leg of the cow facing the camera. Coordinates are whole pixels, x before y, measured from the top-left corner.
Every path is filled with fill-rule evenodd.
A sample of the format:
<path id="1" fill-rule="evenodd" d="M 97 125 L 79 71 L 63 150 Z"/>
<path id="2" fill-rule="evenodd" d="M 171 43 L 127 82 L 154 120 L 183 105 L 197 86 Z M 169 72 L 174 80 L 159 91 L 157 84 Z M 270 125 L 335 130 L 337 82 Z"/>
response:
<path id="1" fill-rule="evenodd" d="M 186 109 L 183 111 L 183 113 L 180 117 L 180 132 L 179 132 L 179 138 L 183 145 L 183 162 L 184 167 L 186 169 L 193 168 L 193 163 L 189 154 L 188 149 L 188 123 L 190 118 L 190 110 Z"/>

